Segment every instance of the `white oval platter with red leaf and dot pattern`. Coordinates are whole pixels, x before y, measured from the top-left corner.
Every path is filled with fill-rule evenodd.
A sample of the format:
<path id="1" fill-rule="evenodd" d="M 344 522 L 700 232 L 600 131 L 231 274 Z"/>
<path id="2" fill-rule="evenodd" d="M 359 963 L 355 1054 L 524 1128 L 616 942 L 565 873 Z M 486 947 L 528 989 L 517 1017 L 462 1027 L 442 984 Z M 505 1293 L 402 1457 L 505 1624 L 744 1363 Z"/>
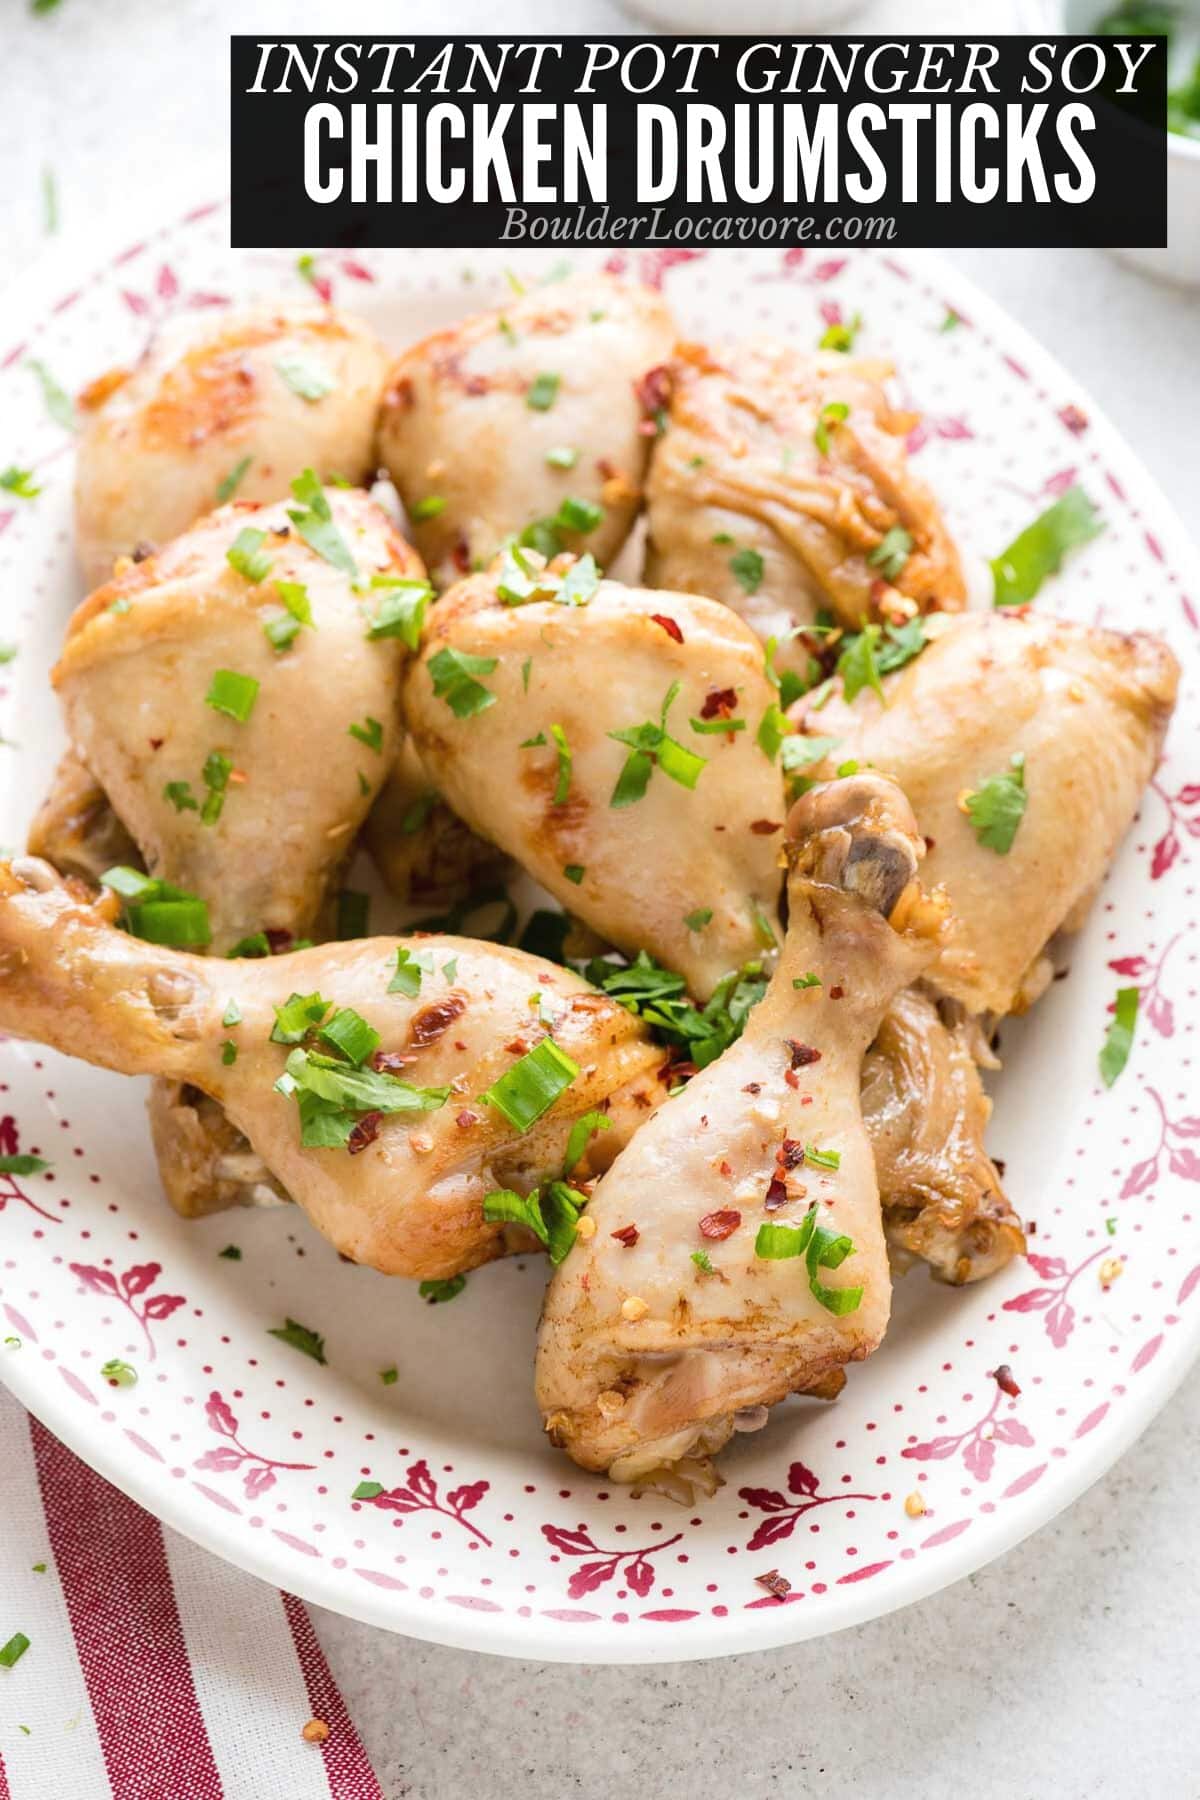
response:
<path id="1" fill-rule="evenodd" d="M 234 299 L 317 284 L 399 347 L 507 292 L 507 270 L 533 283 L 561 261 L 322 252 L 304 274 L 291 254 L 230 252 L 227 234 L 225 207 L 207 205 L 94 261 L 58 254 L 0 326 L 0 468 L 41 486 L 0 491 L 0 639 L 16 646 L 0 666 L 0 844 L 22 844 L 63 742 L 47 671 L 81 590 L 59 391 L 135 358 L 166 319 Z M 819 1636 L 979 1568 L 1094 1481 L 1200 1348 L 1200 581 L 1096 403 L 925 252 L 608 261 L 662 284 L 694 337 L 813 344 L 860 313 L 860 346 L 894 356 L 923 412 L 910 448 L 981 592 L 986 558 L 1078 481 L 1105 533 L 1038 605 L 1153 628 L 1184 662 L 1166 761 L 1061 958 L 1069 979 L 1004 1031 L 991 1147 L 1036 1224 L 1029 1258 L 964 1291 L 910 1274 L 835 1406 L 790 1402 L 736 1438 L 725 1487 L 693 1510 L 635 1499 L 542 1438 L 538 1262 L 426 1305 L 338 1262 L 299 1211 L 187 1224 L 158 1192 L 144 1084 L 7 1040 L 0 1154 L 50 1166 L 0 1174 L 0 1377 L 158 1517 L 309 1600 L 480 1651 L 671 1661 Z M 1130 985 L 1137 1039 L 1105 1089 L 1097 1051 Z M 230 1244 L 239 1260 L 221 1258 Z M 324 1364 L 270 1336 L 284 1319 L 324 1337 Z M 110 1357 L 137 1386 L 101 1377 Z M 1002 1363 L 1018 1397 L 991 1375 Z M 380 1492 L 354 1499 L 363 1481 Z M 786 1598 L 759 1584 L 772 1571 Z"/>

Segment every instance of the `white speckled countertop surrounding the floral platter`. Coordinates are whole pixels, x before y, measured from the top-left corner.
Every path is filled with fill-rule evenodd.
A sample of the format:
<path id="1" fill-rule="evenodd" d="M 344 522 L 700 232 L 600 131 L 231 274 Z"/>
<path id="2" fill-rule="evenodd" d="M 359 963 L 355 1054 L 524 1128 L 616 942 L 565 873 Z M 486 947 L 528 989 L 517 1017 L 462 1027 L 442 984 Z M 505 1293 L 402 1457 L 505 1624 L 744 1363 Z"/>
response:
<path id="1" fill-rule="evenodd" d="M 9 281 L 43 243 L 45 166 L 67 238 L 97 212 L 115 209 L 130 230 L 167 198 L 227 187 L 230 31 L 428 25 L 403 0 L 61 0 L 41 18 L 27 0 L 0 5 Z M 901 11 L 891 4 L 889 23 Z M 955 9 L 907 11 L 912 29 L 945 31 Z M 995 27 L 1004 7 L 970 13 L 975 29 L 984 13 Z M 448 0 L 437 25 L 633 29 L 610 0 Z M 950 256 L 1097 394 L 1195 529 L 1200 293 L 1155 288 L 1097 250 Z M 734 1661 L 515 1663 L 315 1618 L 389 1800 L 676 1787 L 745 1800 L 1193 1800 L 1196 1469 L 1193 1377 L 1105 1481 L 1000 1562 L 873 1625 Z M 266 1771 L 263 1795 L 275 1800 Z"/>

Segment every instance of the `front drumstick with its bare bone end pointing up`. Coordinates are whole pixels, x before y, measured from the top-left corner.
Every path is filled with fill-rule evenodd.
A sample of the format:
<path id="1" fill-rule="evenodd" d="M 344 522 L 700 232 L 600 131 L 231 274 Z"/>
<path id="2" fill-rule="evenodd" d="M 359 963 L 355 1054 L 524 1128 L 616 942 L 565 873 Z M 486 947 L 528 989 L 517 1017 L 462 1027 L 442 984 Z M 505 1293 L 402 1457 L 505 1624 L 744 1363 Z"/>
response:
<path id="1" fill-rule="evenodd" d="M 937 909 L 914 880 L 921 841 L 880 776 L 813 788 L 790 824 L 790 925 L 743 1037 L 637 1134 L 588 1206 L 592 1235 L 551 1280 L 536 1391 L 585 1469 L 702 1480 L 696 1458 L 793 1391 L 828 1391 L 880 1343 L 891 1307 L 880 1197 L 858 1105 L 862 1058 L 894 994 L 928 961 Z M 815 974 L 820 986 L 797 988 Z M 806 1147 L 837 1152 L 822 1168 Z M 770 1195 L 770 1199 L 768 1199 Z M 756 1255 L 761 1224 L 853 1240 L 826 1289 L 804 1256 Z M 628 1242 L 628 1228 L 635 1242 Z M 622 1233 L 622 1237 L 617 1237 Z M 693 1260 L 707 1253 L 712 1273 Z"/>

